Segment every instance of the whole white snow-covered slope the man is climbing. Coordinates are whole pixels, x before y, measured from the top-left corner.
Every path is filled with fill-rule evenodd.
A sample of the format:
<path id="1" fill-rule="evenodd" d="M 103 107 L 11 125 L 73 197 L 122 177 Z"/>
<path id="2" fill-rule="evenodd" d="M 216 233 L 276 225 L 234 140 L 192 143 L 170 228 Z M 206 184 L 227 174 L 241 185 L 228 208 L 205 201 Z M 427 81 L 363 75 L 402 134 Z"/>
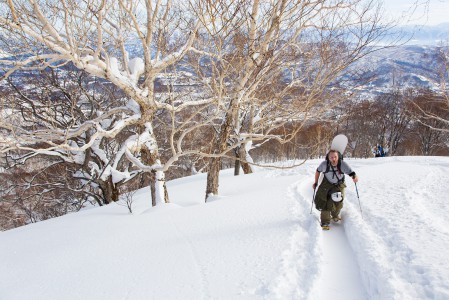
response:
<path id="1" fill-rule="evenodd" d="M 169 182 L 119 205 L 0 233 L 0 299 L 449 299 L 448 157 L 348 163 L 343 223 L 310 214 L 319 160 Z M 359 203 L 360 199 L 360 203 Z"/>

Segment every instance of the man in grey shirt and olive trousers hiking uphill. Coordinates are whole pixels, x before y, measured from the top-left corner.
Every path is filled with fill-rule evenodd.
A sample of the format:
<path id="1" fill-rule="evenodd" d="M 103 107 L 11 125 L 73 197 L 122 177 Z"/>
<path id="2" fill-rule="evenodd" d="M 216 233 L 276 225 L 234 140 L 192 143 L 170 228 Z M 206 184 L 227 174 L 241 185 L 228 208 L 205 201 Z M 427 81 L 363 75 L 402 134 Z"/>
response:
<path id="1" fill-rule="evenodd" d="M 345 195 L 345 174 L 358 182 L 357 175 L 351 167 L 342 161 L 342 155 L 336 150 L 330 150 L 315 172 L 313 189 L 318 185 L 320 173 L 324 173 L 323 181 L 315 195 L 315 207 L 321 211 L 321 227 L 329 230 L 331 218 L 338 222 L 341 220 L 340 211 L 343 208 Z"/>

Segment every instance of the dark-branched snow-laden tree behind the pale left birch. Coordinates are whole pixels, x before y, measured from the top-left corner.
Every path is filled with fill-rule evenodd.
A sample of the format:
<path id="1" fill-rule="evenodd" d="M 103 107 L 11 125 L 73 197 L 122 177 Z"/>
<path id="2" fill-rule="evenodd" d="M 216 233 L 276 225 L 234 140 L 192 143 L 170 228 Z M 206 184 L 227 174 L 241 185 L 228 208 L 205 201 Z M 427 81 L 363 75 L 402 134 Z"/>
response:
<path id="1" fill-rule="evenodd" d="M 79 194 L 84 193 L 99 205 L 117 201 L 120 186 L 141 172 L 130 168 L 119 152 L 124 141 L 132 135 L 132 127 L 122 130 L 113 139 L 97 139 L 82 153 L 43 149 L 45 145 L 60 144 L 60 133 L 67 128 L 98 121 L 99 117 L 103 119 L 103 128 L 113 128 L 124 116 L 133 114 L 131 109 L 121 106 L 128 99 L 113 85 L 70 68 L 47 68 L 36 74 L 8 78 L 8 82 L 12 88 L 3 96 L 3 110 L 7 109 L 9 113 L 0 123 L 9 124 L 10 130 L 5 133 L 16 134 L 9 137 L 10 140 L 35 148 L 33 151 L 9 151 L 6 158 L 10 168 L 33 165 L 38 157 L 47 160 L 49 165 L 65 164 L 66 169 L 72 170 L 73 178 L 66 181 L 65 187 L 65 180 L 59 182 L 60 189 L 78 190 Z M 83 135 L 66 138 L 72 144 L 85 145 L 94 134 L 95 129 L 88 129 Z M 28 163 L 28 160 L 33 162 Z M 28 169 L 39 171 L 38 168 Z M 47 166 L 45 169 L 50 168 Z M 45 171 L 42 173 L 40 177 L 45 177 Z M 75 184 L 77 187 L 71 187 L 72 181 L 78 182 Z M 49 185 L 55 186 L 51 182 Z M 46 189 L 43 184 L 40 186 Z"/>

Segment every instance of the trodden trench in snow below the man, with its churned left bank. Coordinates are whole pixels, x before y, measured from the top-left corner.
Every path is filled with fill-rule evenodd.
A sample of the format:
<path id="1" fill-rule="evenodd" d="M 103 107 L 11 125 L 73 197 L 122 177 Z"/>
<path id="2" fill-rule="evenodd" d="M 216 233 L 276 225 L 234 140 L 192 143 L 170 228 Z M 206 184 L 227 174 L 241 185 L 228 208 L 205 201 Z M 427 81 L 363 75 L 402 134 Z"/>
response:
<path id="1" fill-rule="evenodd" d="M 344 221 L 332 221 L 330 230 L 323 230 L 317 211 L 313 209 L 310 214 L 312 193 L 308 181 L 288 187 L 287 198 L 298 226 L 290 237 L 290 247 L 282 255 L 282 267 L 270 296 L 304 300 L 366 299 Z"/>

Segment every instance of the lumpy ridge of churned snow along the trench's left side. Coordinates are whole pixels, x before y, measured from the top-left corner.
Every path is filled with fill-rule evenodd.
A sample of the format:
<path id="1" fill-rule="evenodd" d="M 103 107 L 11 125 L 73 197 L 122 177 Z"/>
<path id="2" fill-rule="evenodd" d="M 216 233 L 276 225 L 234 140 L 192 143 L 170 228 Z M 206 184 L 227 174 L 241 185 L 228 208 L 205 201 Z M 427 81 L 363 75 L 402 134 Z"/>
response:
<path id="1" fill-rule="evenodd" d="M 321 228 L 314 218 L 308 217 L 306 200 L 297 192 L 298 185 L 297 182 L 288 186 L 286 193 L 292 217 L 298 225 L 292 231 L 288 249 L 282 253 L 279 275 L 273 280 L 265 299 L 309 299 L 310 287 L 319 275 Z M 298 197 L 302 203 L 296 200 Z"/>

